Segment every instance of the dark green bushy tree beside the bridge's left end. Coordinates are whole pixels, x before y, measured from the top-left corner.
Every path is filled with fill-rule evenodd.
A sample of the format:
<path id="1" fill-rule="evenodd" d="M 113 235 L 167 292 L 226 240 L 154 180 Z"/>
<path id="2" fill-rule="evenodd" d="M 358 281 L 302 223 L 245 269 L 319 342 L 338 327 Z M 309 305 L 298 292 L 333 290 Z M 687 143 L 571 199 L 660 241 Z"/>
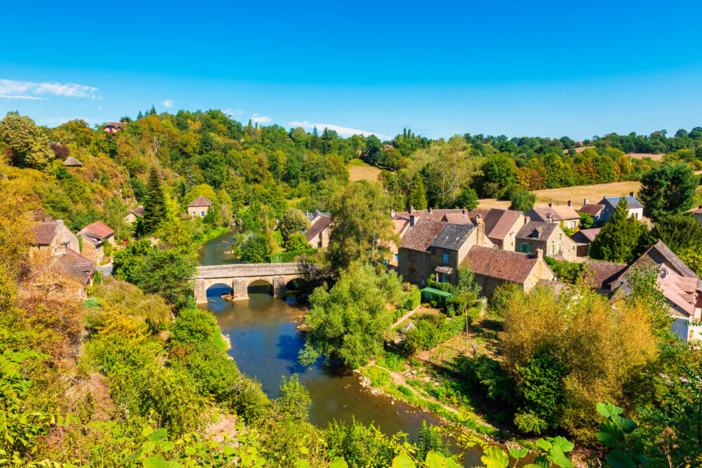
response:
<path id="1" fill-rule="evenodd" d="M 195 265 L 192 258 L 178 250 L 151 250 L 135 269 L 136 285 L 145 293 L 161 295 L 176 309 L 192 306 Z"/>

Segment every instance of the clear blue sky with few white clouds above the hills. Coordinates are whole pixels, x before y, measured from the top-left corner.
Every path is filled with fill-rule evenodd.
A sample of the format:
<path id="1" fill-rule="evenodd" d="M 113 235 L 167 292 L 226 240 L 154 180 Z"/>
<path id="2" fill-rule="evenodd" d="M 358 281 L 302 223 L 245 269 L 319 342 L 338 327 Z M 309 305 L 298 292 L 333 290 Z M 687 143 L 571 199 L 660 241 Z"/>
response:
<path id="1" fill-rule="evenodd" d="M 0 114 L 223 109 L 390 138 L 702 126 L 700 2 L 113 5 L 4 5 Z"/>

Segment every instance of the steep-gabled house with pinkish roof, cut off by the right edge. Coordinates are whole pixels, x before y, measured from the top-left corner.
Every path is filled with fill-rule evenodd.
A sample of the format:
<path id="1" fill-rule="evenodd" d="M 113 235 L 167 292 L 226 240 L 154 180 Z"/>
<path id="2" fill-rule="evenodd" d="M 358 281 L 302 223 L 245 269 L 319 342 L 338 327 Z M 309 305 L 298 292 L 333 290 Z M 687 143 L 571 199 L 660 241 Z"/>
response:
<path id="1" fill-rule="evenodd" d="M 656 281 L 674 319 L 673 332 L 685 341 L 702 340 L 702 280 L 699 276 L 658 240 L 611 283 L 615 305 L 631 294 L 628 274 L 635 268 L 656 270 Z"/>

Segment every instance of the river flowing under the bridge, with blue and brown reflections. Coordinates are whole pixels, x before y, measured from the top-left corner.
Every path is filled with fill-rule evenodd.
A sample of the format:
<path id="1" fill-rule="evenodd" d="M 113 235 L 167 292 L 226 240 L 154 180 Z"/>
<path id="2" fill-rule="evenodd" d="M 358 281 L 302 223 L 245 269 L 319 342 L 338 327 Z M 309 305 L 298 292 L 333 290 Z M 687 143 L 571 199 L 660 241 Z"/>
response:
<path id="1" fill-rule="evenodd" d="M 226 233 L 205 243 L 199 252 L 200 264 L 236 262 L 226 253 L 235 235 Z M 422 420 L 439 424 L 431 413 L 402 401 L 393 403 L 389 396 L 371 394 L 349 370 L 325 366 L 321 359 L 312 368 L 301 366 L 298 352 L 304 340 L 297 325 L 303 319 L 303 307 L 259 288 L 250 288 L 249 300 L 229 302 L 221 298 L 228 291 L 224 285 L 213 286 L 208 290 L 210 302 L 200 307 L 215 314 L 222 332 L 230 336 L 228 354 L 243 373 L 258 379 L 270 398 L 277 398 L 282 375 L 298 374 L 312 399 L 310 422 L 318 427 L 324 428 L 335 419 L 351 422 L 355 418 L 364 424 L 372 422 L 385 434 L 402 431 L 416 439 Z M 479 464 L 479 450 L 466 455 L 467 466 Z"/>

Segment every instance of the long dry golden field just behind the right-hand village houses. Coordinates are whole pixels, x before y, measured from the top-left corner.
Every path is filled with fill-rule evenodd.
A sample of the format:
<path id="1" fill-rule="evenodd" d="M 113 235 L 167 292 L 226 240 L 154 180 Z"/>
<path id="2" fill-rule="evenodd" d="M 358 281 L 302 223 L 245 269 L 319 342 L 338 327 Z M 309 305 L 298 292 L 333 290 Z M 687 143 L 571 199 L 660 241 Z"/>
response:
<path id="1" fill-rule="evenodd" d="M 583 200 L 588 199 L 589 203 L 597 203 L 604 196 L 620 196 L 628 195 L 629 192 L 638 192 L 641 187 L 641 182 L 612 182 L 611 184 L 597 185 L 576 185 L 575 187 L 561 187 L 559 189 L 543 189 L 536 190 L 535 206 L 547 206 L 548 202 L 553 200 L 557 205 L 564 205 L 567 201 L 572 200 L 574 208 L 578 209 L 583 206 Z M 502 208 L 507 209 L 510 206 L 509 200 L 498 199 L 480 199 L 479 208 Z"/>

